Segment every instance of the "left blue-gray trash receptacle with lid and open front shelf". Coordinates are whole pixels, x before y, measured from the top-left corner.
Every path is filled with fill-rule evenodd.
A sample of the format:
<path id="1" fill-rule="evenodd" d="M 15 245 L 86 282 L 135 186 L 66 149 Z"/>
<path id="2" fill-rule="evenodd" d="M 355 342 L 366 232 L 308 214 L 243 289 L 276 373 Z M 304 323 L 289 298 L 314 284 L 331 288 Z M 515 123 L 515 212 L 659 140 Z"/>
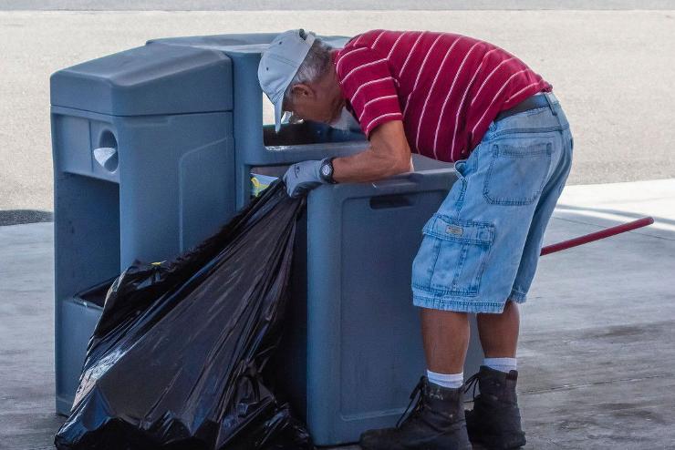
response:
<path id="1" fill-rule="evenodd" d="M 75 294 L 189 249 L 234 214 L 232 65 L 150 45 L 50 81 L 57 412 L 68 414 L 105 290 Z"/>

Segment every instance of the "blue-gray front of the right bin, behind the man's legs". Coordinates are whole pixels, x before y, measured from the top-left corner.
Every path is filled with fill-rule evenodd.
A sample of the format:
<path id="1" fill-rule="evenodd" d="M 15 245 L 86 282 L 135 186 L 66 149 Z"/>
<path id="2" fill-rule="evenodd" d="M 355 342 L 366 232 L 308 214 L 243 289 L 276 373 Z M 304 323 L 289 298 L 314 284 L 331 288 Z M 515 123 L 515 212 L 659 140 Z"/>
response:
<path id="1" fill-rule="evenodd" d="M 306 315 L 293 318 L 287 338 L 302 342 L 306 323 L 306 393 L 297 390 L 300 376 L 288 386 L 306 401 L 296 408 L 306 411 L 317 445 L 356 442 L 367 429 L 392 426 L 408 404 L 425 370 L 412 260 L 424 223 L 455 179 L 452 169 L 431 169 L 310 193 L 306 312 L 293 310 Z M 473 336 L 467 373 L 481 358 Z"/>

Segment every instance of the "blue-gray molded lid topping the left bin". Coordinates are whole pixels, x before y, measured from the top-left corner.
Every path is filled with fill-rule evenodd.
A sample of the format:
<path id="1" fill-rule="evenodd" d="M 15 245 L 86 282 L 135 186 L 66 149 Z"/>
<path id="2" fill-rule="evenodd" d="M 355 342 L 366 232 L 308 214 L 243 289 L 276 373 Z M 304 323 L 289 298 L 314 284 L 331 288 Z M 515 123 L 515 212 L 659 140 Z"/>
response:
<path id="1" fill-rule="evenodd" d="M 59 70 L 51 104 L 112 116 L 229 111 L 232 62 L 223 52 L 160 43 Z"/>

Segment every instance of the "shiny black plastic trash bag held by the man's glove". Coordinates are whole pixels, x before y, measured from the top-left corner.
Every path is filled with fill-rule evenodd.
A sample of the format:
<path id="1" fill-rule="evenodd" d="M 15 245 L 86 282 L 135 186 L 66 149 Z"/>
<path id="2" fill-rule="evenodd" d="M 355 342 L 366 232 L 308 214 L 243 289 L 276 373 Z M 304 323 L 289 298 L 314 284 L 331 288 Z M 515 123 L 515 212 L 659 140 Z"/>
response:
<path id="1" fill-rule="evenodd" d="M 193 250 L 134 261 L 109 288 L 57 448 L 313 448 L 261 375 L 303 206 L 276 182 Z"/>

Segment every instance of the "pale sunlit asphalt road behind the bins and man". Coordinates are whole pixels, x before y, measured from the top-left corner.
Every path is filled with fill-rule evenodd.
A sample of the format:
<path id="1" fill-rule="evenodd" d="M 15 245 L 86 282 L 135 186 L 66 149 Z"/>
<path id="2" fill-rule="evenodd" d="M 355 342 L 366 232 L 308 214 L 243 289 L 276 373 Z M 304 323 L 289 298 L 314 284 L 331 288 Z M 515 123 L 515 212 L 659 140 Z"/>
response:
<path id="1" fill-rule="evenodd" d="M 52 210 L 48 78 L 57 69 L 153 37 L 300 26 L 489 40 L 554 85 L 575 134 L 570 183 L 675 177 L 675 11 L 0 11 L 0 210 Z"/>

